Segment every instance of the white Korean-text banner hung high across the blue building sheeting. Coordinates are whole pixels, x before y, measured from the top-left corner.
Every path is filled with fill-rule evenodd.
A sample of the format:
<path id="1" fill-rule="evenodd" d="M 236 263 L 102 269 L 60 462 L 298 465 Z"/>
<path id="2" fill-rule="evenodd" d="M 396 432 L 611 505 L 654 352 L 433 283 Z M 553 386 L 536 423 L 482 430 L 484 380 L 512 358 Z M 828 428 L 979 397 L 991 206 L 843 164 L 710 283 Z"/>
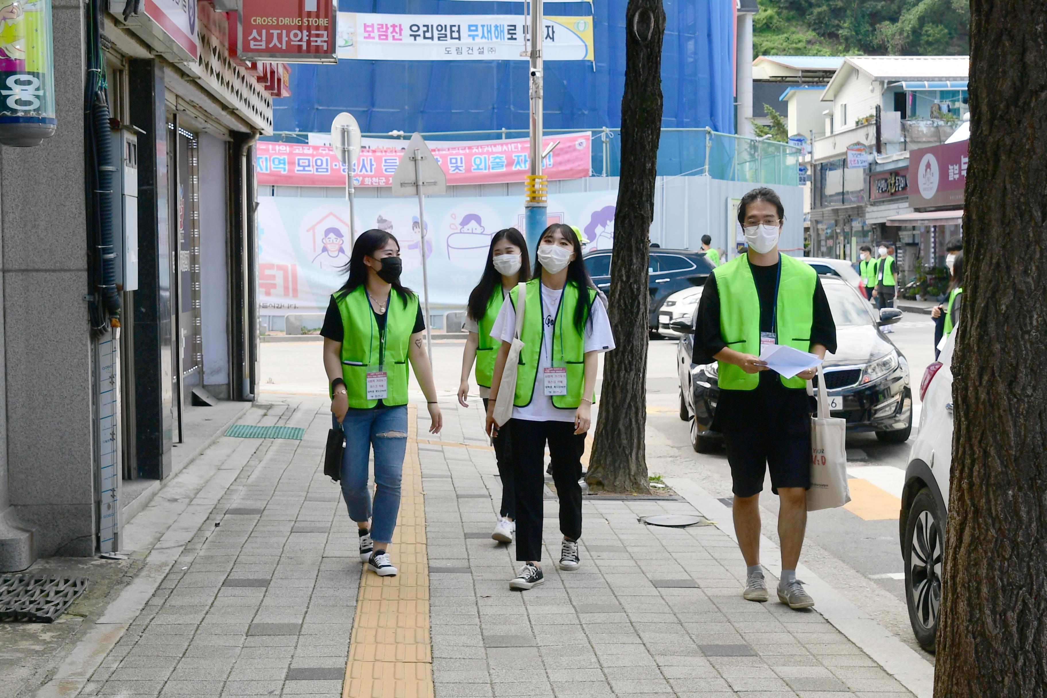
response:
<path id="1" fill-rule="evenodd" d="M 547 17 L 545 61 L 595 61 L 592 17 Z M 338 13 L 338 58 L 365 61 L 528 61 L 521 15 Z"/>

